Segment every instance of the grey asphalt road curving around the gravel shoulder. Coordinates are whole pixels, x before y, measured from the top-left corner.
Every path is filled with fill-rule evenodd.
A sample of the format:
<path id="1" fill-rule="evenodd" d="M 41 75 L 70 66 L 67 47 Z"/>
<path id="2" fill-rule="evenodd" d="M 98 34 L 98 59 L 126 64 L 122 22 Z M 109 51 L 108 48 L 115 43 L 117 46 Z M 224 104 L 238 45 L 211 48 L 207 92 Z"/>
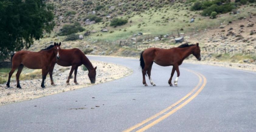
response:
<path id="1" fill-rule="evenodd" d="M 133 74 L 0 106 L 0 131 L 256 130 L 255 72 L 182 64 L 178 87 L 170 87 L 172 67 L 154 64 L 151 76 L 157 86 L 151 86 L 147 79 L 149 86 L 145 87 L 138 59 L 95 56 L 89 59 L 129 67 Z M 173 79 L 176 76 L 175 73 Z"/>

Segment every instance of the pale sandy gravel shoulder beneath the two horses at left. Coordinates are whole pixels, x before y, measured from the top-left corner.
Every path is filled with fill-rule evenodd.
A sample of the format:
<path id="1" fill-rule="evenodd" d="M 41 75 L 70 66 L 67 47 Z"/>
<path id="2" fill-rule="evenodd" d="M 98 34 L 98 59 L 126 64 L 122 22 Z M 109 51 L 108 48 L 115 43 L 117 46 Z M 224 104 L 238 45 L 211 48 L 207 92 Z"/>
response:
<path id="1" fill-rule="evenodd" d="M 93 66 L 97 66 L 95 84 L 116 80 L 128 76 L 133 72 L 131 69 L 112 63 L 105 63 L 99 61 L 91 62 Z M 10 88 L 7 88 L 5 84 L 0 84 L 0 105 L 24 100 L 31 100 L 42 96 L 52 95 L 56 93 L 61 93 L 69 90 L 76 90 L 82 87 L 95 85 L 90 83 L 90 80 L 88 78 L 88 71 L 83 71 L 80 66 L 78 68 L 77 73 L 77 82 L 79 84 L 75 85 L 73 82 L 74 80 L 72 78 L 70 79 L 70 85 L 68 86 L 66 85 L 66 80 L 67 76 L 69 75 L 71 66 L 64 72 L 61 72 L 59 70 L 61 68 L 64 67 L 59 66 L 57 64 L 54 67 L 53 79 L 56 86 L 50 85 L 50 77 L 47 77 L 45 82 L 46 88 L 44 89 L 40 87 L 42 79 L 20 81 L 22 89 L 16 88 L 16 81 L 11 81 Z"/>

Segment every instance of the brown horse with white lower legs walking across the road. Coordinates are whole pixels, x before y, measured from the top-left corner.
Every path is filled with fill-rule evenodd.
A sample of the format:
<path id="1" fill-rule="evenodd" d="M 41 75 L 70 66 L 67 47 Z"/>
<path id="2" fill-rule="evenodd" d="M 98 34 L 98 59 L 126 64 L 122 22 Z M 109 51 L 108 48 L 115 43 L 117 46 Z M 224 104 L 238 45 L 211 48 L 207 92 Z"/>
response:
<path id="1" fill-rule="evenodd" d="M 145 75 L 147 72 L 151 85 L 156 86 L 156 84 L 153 82 L 153 80 L 150 77 L 153 62 L 155 62 L 160 66 L 173 66 L 171 71 L 171 77 L 168 83 L 170 84 L 170 86 L 172 86 L 171 80 L 176 70 L 178 76 L 174 81 L 174 85 L 177 86 L 178 77 L 180 76 L 179 65 L 181 65 L 183 60 L 187 58 L 190 54 L 193 54 L 196 57 L 196 59 L 198 59 L 199 61 L 201 60 L 201 51 L 200 51 L 199 43 L 191 44 L 191 45 L 185 43 L 178 46 L 177 48 L 171 48 L 171 49 L 159 49 L 159 48 L 146 49 L 140 54 L 140 66 L 142 69 L 143 84 L 145 84 L 145 86 L 148 86 L 145 80 Z"/>

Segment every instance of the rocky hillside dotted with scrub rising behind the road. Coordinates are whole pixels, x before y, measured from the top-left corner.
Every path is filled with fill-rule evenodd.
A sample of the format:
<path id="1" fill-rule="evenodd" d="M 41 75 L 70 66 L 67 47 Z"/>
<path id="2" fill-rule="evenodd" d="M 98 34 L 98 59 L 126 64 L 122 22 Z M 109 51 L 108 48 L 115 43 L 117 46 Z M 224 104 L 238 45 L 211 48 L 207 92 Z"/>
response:
<path id="1" fill-rule="evenodd" d="M 66 41 L 62 48 L 77 47 L 86 54 L 94 55 L 138 56 L 141 50 L 148 47 L 171 48 L 180 45 L 175 43 L 174 38 L 182 35 L 185 36 L 185 42 L 199 42 L 201 48 L 207 47 L 212 50 L 219 48 L 221 54 L 223 53 L 219 55 L 220 51 L 217 53 L 204 50 L 203 60 L 248 63 L 254 62 L 256 58 L 255 54 L 251 55 L 256 48 L 255 3 L 237 4 L 236 10 L 225 14 L 219 13 L 216 19 L 211 19 L 209 16 L 202 16 L 202 10 L 191 11 L 195 2 L 192 0 L 47 0 L 46 2 L 55 7 L 54 32 L 36 41 L 30 50 L 42 49 L 54 41 L 63 42 L 67 37 L 58 36 L 63 25 L 79 22 L 85 28 L 83 32 L 78 33 L 83 35 L 83 39 Z M 101 19 L 100 22 L 94 23 L 88 20 L 92 15 Z M 114 18 L 127 19 L 128 23 L 110 26 Z M 191 18 L 195 18 L 195 22 L 190 23 Z M 223 26 L 223 29 L 220 29 L 220 26 Z M 108 32 L 101 32 L 102 29 Z M 89 32 L 89 35 L 85 34 L 86 32 Z M 222 48 L 226 48 L 226 54 Z M 243 55 L 242 49 L 250 49 L 251 56 Z M 234 54 L 237 57 L 234 57 Z M 230 56 L 233 59 L 230 59 Z"/>

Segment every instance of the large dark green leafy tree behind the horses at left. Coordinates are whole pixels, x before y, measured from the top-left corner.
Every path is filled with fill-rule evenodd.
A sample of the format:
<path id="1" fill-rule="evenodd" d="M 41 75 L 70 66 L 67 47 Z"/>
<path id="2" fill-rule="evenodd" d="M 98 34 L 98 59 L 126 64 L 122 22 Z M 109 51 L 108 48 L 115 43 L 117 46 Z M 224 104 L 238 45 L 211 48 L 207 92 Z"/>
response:
<path id="1" fill-rule="evenodd" d="M 50 33 L 55 25 L 52 11 L 43 0 L 0 0 L 0 59 Z"/>

